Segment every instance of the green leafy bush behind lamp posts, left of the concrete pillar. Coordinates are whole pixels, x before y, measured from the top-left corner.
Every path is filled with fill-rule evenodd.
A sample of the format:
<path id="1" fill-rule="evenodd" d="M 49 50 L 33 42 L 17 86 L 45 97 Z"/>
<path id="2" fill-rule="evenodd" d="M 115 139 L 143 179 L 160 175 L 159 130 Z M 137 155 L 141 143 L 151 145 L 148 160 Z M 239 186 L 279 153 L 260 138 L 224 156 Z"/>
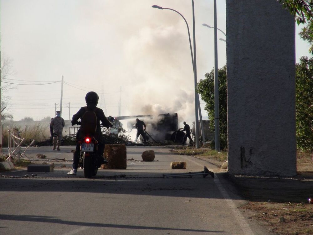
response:
<path id="1" fill-rule="evenodd" d="M 226 65 L 218 69 L 218 92 L 219 92 L 219 126 L 220 148 L 227 149 L 227 88 L 226 88 Z M 214 133 L 214 68 L 205 74 L 205 79 L 198 82 L 198 93 L 206 103 L 204 109 L 208 112 L 210 129 Z M 213 146 L 214 148 L 214 143 Z"/>

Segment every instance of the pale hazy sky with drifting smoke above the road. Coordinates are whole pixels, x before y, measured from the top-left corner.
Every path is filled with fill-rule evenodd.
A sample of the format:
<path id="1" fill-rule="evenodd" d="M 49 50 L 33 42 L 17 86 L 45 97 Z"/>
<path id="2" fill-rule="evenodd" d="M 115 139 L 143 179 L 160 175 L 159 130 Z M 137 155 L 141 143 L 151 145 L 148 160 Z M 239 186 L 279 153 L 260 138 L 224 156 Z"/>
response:
<path id="1" fill-rule="evenodd" d="M 96 91 L 107 116 L 178 112 L 194 118 L 194 80 L 187 28 L 191 1 L 182 0 L 1 0 L 1 53 L 11 59 L 13 83 L 64 81 L 62 116 L 69 119 Z M 196 0 L 198 80 L 214 66 L 213 0 Z M 218 1 L 218 28 L 226 31 L 225 0 Z M 308 55 L 296 26 L 296 58 Z M 224 35 L 218 32 L 218 38 Z M 218 41 L 218 64 L 226 64 L 226 43 Z M 32 81 L 32 82 L 31 82 Z M 3 86 L 4 84 L 2 84 Z M 61 83 L 13 85 L 5 91 L 14 120 L 40 120 L 59 110 Z M 102 87 L 104 92 L 102 93 Z M 102 102 L 101 102 L 102 98 Z M 203 104 L 202 104 L 203 106 Z M 203 111 L 204 112 L 204 111 Z M 206 113 L 203 113 L 206 116 Z"/>

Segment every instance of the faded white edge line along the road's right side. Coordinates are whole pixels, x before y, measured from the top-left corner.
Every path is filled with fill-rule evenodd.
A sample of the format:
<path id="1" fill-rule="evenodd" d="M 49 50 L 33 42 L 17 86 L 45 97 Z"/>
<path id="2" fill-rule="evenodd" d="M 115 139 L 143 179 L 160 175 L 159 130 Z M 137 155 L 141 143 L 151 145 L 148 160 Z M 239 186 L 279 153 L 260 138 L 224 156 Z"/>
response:
<path id="1" fill-rule="evenodd" d="M 192 161 L 193 163 L 195 163 L 196 165 L 199 166 L 203 166 L 201 164 L 199 164 L 198 162 L 188 158 L 188 157 L 184 157 L 186 160 Z M 209 171 L 214 172 L 212 169 L 208 169 Z M 233 215 L 235 216 L 235 218 L 237 219 L 242 231 L 244 232 L 244 235 L 254 235 L 254 233 L 252 232 L 249 224 L 246 222 L 246 220 L 244 219 L 244 217 L 242 216 L 242 214 L 240 213 L 240 211 L 237 209 L 237 206 L 235 205 L 235 203 L 233 202 L 232 199 L 230 199 L 230 196 L 228 195 L 227 191 L 224 189 L 221 181 L 218 179 L 217 175 L 214 173 L 214 183 L 216 184 L 216 186 L 218 187 L 218 190 L 221 192 L 221 194 L 223 195 L 224 199 L 226 200 L 228 206 L 230 207 L 231 211 L 233 212 Z"/>

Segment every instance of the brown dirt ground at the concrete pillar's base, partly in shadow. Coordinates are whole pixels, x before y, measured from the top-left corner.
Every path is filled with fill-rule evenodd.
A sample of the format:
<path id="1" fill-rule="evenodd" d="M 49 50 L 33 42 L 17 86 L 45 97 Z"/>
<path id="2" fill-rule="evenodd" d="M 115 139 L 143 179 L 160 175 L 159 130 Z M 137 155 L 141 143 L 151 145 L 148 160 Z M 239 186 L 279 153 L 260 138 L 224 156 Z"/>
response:
<path id="1" fill-rule="evenodd" d="M 264 221 L 275 234 L 307 235 L 313 234 L 313 204 L 308 200 L 313 199 L 312 167 L 311 154 L 298 153 L 295 177 L 229 177 L 250 201 L 241 208 L 254 211 L 252 219 Z"/>

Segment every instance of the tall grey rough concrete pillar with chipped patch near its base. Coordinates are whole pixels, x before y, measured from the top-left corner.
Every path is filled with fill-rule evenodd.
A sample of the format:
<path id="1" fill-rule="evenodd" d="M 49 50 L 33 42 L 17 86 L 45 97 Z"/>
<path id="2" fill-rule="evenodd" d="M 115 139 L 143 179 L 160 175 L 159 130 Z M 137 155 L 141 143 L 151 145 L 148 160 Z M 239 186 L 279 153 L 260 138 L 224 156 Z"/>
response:
<path id="1" fill-rule="evenodd" d="M 228 171 L 296 175 L 295 22 L 276 0 L 226 0 Z"/>

